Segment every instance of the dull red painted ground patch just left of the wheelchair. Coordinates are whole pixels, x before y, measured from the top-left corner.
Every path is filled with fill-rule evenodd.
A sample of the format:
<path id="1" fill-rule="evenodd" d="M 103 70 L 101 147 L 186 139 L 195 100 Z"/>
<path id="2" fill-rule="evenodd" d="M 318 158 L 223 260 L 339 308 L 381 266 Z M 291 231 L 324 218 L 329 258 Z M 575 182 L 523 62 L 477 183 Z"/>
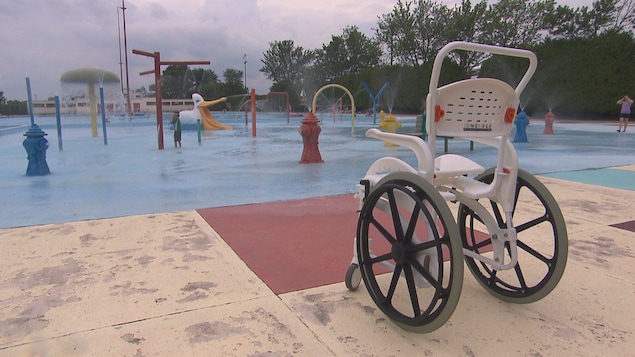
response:
<path id="1" fill-rule="evenodd" d="M 197 211 L 274 293 L 282 294 L 344 280 L 357 208 L 353 194 L 346 194 Z"/>

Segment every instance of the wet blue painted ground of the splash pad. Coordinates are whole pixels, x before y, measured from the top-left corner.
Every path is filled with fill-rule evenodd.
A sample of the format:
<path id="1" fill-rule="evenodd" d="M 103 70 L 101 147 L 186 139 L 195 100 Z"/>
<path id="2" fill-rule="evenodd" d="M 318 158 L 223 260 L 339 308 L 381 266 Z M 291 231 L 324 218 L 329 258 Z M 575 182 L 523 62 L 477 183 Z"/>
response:
<path id="1" fill-rule="evenodd" d="M 332 117 L 321 118 L 324 163 L 300 164 L 302 117 L 288 124 L 282 114 L 259 114 L 252 137 L 244 113 L 215 115 L 234 130 L 205 132 L 201 145 L 196 131 L 184 131 L 180 149 L 173 146 L 169 116 L 164 116 L 165 150 L 157 149 L 155 118 L 113 119 L 104 145 L 101 123 L 99 137 L 93 138 L 87 117 L 63 117 L 60 151 L 55 118 L 36 117 L 48 133 L 52 172 L 40 177 L 25 176 L 22 141 L 30 119 L 0 118 L 0 228 L 353 193 L 370 164 L 382 156 L 415 165 L 407 149 L 364 136 L 376 127 L 372 117 L 356 117 L 354 128 L 350 116 L 335 123 Z M 403 124 L 400 132 L 415 131 L 413 116 L 397 118 Z M 543 135 L 543 128 L 541 120 L 532 121 L 529 142 L 515 144 L 521 168 L 534 174 L 591 176 L 579 170 L 635 163 L 635 132 L 617 133 L 616 123 L 556 121 L 554 135 Z M 439 141 L 437 151 L 442 150 Z M 470 152 L 468 142 L 454 140 L 450 151 L 486 167 L 495 164 L 493 150 L 481 145 Z M 591 172 L 604 182 L 611 176 Z M 621 185 L 627 179 L 615 180 Z"/>

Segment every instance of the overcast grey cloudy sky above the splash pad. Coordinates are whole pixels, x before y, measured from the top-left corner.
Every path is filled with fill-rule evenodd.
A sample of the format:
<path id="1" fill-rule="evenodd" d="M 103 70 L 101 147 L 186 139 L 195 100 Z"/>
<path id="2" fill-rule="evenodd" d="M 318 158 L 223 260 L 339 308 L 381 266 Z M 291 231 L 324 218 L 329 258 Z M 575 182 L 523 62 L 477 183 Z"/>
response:
<path id="1" fill-rule="evenodd" d="M 442 0 L 451 5 L 454 0 Z M 557 0 L 578 7 L 592 0 Z M 222 79 L 227 68 L 245 69 L 247 86 L 258 94 L 271 82 L 259 69 L 269 43 L 291 39 L 305 49 L 320 48 L 331 35 L 356 25 L 372 36 L 378 16 L 395 0 L 125 0 L 130 88 L 148 88 L 152 59 L 133 49 L 158 51 L 164 61 L 211 61 Z M 121 0 L 0 1 L 0 91 L 26 100 L 61 95 L 60 77 L 80 67 L 120 74 Z M 123 36 L 121 39 L 123 51 Z M 125 57 L 124 62 L 125 62 Z M 163 67 L 165 69 L 165 67 Z M 125 66 L 124 66 L 125 81 Z M 212 98 L 206 98 L 212 99 Z"/>

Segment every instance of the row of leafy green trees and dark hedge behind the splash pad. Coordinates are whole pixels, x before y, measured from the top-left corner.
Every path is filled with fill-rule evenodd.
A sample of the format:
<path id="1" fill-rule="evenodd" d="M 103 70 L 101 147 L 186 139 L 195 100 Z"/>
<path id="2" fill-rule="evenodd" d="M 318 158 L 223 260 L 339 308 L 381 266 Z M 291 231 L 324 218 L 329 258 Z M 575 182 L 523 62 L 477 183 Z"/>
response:
<path id="1" fill-rule="evenodd" d="M 455 7 L 398 0 L 390 13 L 378 16 L 374 36 L 348 26 L 319 49 L 304 49 L 290 39 L 271 42 L 260 71 L 273 81 L 272 91 L 295 94 L 296 107 L 302 105 L 302 90 L 310 97 L 323 85 L 338 83 L 356 93 L 358 110 L 370 108 L 372 100 L 361 82 L 375 92 L 387 82 L 390 95 L 383 105 L 391 108 L 384 110 L 421 113 L 432 61 L 448 42 L 526 48 L 539 59 L 521 98 L 528 113 L 553 109 L 564 116 L 614 117 L 615 100 L 635 94 L 634 30 L 635 0 L 598 0 L 578 8 L 553 0 L 481 0 L 474 5 L 464 0 Z M 524 71 L 517 62 L 457 51 L 441 79 L 478 73 L 515 85 Z"/>

